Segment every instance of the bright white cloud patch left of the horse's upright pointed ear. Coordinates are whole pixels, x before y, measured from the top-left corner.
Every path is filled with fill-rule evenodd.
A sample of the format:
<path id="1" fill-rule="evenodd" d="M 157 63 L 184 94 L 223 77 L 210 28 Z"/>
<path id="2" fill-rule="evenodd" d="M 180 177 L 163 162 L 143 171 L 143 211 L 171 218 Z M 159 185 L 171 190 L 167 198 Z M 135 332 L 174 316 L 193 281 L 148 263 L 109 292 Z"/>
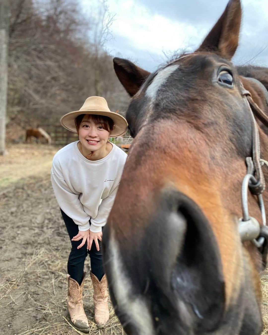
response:
<path id="1" fill-rule="evenodd" d="M 175 50 L 199 40 L 200 28 L 162 16 L 151 14 L 150 9 L 137 5 L 134 0 L 110 1 L 111 11 L 117 10 L 112 30 L 116 36 L 128 38 L 137 49 L 161 54 L 162 50 Z M 113 6 L 112 6 L 113 4 Z M 205 32 L 205 28 L 202 28 Z"/>

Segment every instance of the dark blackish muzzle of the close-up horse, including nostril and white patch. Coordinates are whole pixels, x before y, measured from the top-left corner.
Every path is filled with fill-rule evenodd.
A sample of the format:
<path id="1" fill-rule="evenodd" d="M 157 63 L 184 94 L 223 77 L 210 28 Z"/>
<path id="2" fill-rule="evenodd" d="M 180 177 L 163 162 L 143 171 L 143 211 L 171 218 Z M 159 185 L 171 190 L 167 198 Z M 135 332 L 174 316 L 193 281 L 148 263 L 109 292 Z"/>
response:
<path id="1" fill-rule="evenodd" d="M 142 236 L 129 245 L 117 241 L 113 227 L 103 236 L 110 294 L 127 334 L 217 329 L 224 280 L 217 241 L 202 210 L 181 192 L 165 189 Z"/>

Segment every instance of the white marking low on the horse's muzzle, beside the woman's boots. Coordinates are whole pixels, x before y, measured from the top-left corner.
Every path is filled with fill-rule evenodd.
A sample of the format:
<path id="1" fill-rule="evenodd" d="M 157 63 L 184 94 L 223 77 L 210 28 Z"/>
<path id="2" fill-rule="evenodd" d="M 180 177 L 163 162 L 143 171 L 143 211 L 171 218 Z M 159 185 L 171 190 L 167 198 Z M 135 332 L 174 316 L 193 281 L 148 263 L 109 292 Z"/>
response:
<path id="1" fill-rule="evenodd" d="M 139 334 L 154 334 L 153 322 L 146 300 L 143 296 L 134 296 L 132 294 L 131 282 L 124 273 L 122 257 L 113 231 L 111 231 L 108 252 L 111 257 L 109 263 L 111 264 L 112 270 L 112 286 L 117 300 L 117 306 L 120 312 L 127 316 L 126 324 L 128 322 L 134 324 Z"/>

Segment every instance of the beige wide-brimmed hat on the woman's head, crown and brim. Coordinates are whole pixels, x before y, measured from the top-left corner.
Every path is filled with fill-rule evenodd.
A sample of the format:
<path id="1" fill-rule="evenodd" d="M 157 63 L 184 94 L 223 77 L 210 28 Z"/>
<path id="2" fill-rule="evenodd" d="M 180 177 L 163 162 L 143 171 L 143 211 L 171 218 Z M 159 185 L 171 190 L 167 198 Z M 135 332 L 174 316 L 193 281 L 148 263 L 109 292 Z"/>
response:
<path id="1" fill-rule="evenodd" d="M 111 131 L 110 137 L 117 137 L 124 135 L 127 131 L 128 123 L 127 120 L 120 114 L 111 112 L 107 101 L 101 96 L 90 96 L 84 102 L 84 105 L 79 109 L 79 111 L 70 112 L 61 118 L 61 125 L 77 133 L 75 127 L 75 118 L 81 114 L 94 114 L 108 116 L 114 121 L 114 129 Z"/>

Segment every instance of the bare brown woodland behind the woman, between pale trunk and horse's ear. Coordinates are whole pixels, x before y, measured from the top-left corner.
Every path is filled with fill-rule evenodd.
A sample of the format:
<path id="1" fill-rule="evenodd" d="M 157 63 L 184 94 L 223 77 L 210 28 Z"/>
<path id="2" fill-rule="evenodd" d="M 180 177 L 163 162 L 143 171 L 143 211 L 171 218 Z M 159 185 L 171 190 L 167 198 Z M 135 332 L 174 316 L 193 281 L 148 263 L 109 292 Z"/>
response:
<path id="1" fill-rule="evenodd" d="M 92 95 L 124 114 L 129 98 L 106 50 L 115 17 L 106 0 L 88 8 L 78 0 L 10 0 L 7 141 L 59 124 Z"/>

